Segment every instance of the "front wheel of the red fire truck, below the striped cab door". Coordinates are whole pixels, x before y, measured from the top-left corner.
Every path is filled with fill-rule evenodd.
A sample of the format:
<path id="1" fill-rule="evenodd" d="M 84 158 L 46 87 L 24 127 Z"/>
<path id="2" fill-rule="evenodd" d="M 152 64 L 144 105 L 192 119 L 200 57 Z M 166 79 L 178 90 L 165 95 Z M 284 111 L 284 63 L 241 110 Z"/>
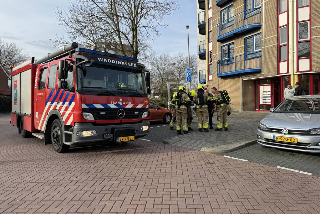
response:
<path id="1" fill-rule="evenodd" d="M 53 149 L 56 152 L 63 153 L 67 152 L 69 149 L 69 145 L 63 144 L 63 129 L 61 127 L 60 119 L 53 120 L 52 126 L 51 126 L 51 143 L 53 146 Z"/>

